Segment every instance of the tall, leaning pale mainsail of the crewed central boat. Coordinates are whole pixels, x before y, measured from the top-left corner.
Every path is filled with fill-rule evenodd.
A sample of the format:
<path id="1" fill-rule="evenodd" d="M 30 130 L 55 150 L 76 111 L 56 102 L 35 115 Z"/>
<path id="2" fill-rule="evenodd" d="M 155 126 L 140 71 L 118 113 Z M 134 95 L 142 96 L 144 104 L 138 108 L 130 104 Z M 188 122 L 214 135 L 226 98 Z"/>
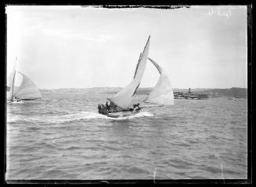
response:
<path id="1" fill-rule="evenodd" d="M 114 95 L 114 97 L 107 98 L 109 101 L 112 101 L 118 107 L 126 109 L 129 108 L 132 103 L 132 96 L 135 94 L 139 84 L 142 80 L 142 76 L 146 69 L 147 56 L 150 48 L 150 37 L 146 41 L 146 46 L 142 55 L 140 55 L 139 62 L 135 70 L 135 76 L 131 83 L 128 86 L 124 87 L 120 92 Z"/>

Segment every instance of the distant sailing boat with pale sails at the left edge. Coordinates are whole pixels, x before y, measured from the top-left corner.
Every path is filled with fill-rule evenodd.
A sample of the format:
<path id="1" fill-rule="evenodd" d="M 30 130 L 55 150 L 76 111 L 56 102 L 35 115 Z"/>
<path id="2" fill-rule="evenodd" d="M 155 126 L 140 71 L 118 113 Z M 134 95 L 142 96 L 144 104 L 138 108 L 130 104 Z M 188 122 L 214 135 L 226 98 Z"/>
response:
<path id="1" fill-rule="evenodd" d="M 41 98 L 41 93 L 38 87 L 32 82 L 30 78 L 25 76 L 22 72 L 17 72 L 16 63 L 13 71 L 9 75 L 7 90 L 7 101 L 21 101 L 21 100 L 35 100 Z M 22 78 L 19 86 L 14 86 L 16 75 Z"/>

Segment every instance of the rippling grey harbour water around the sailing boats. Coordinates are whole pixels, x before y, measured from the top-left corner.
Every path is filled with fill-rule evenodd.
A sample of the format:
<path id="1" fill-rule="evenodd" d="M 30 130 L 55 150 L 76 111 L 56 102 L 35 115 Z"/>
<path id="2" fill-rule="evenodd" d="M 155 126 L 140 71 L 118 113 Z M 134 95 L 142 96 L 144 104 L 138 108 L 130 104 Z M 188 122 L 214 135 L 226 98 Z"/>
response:
<path id="1" fill-rule="evenodd" d="M 175 100 L 108 118 L 97 111 L 106 89 L 41 94 L 7 104 L 7 180 L 247 178 L 247 99 Z"/>

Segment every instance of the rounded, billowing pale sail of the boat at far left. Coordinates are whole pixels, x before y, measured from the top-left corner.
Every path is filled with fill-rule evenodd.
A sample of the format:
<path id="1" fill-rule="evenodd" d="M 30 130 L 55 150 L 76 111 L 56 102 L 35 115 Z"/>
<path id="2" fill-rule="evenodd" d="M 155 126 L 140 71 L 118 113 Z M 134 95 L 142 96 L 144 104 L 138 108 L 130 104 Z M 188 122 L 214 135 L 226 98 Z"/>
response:
<path id="1" fill-rule="evenodd" d="M 16 90 L 14 90 L 13 95 L 23 100 L 33 100 L 41 98 L 41 93 L 38 90 L 38 87 L 31 81 L 31 79 L 25 76 L 22 72 L 16 73 L 19 73 L 23 77 L 23 79 L 20 83 L 20 86 L 17 87 Z"/>

